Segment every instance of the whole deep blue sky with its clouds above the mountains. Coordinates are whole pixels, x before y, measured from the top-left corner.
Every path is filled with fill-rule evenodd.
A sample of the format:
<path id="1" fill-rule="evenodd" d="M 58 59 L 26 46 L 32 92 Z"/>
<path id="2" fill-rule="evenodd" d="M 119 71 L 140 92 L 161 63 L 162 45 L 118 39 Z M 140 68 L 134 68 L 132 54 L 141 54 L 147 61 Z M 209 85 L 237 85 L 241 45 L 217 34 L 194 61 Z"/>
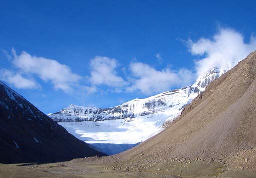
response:
<path id="1" fill-rule="evenodd" d="M 193 83 L 216 56 L 232 61 L 255 50 L 255 7 L 254 1 L 5 1 L 0 79 L 45 113 L 152 96 Z M 226 56 L 219 44 L 242 52 Z"/>

